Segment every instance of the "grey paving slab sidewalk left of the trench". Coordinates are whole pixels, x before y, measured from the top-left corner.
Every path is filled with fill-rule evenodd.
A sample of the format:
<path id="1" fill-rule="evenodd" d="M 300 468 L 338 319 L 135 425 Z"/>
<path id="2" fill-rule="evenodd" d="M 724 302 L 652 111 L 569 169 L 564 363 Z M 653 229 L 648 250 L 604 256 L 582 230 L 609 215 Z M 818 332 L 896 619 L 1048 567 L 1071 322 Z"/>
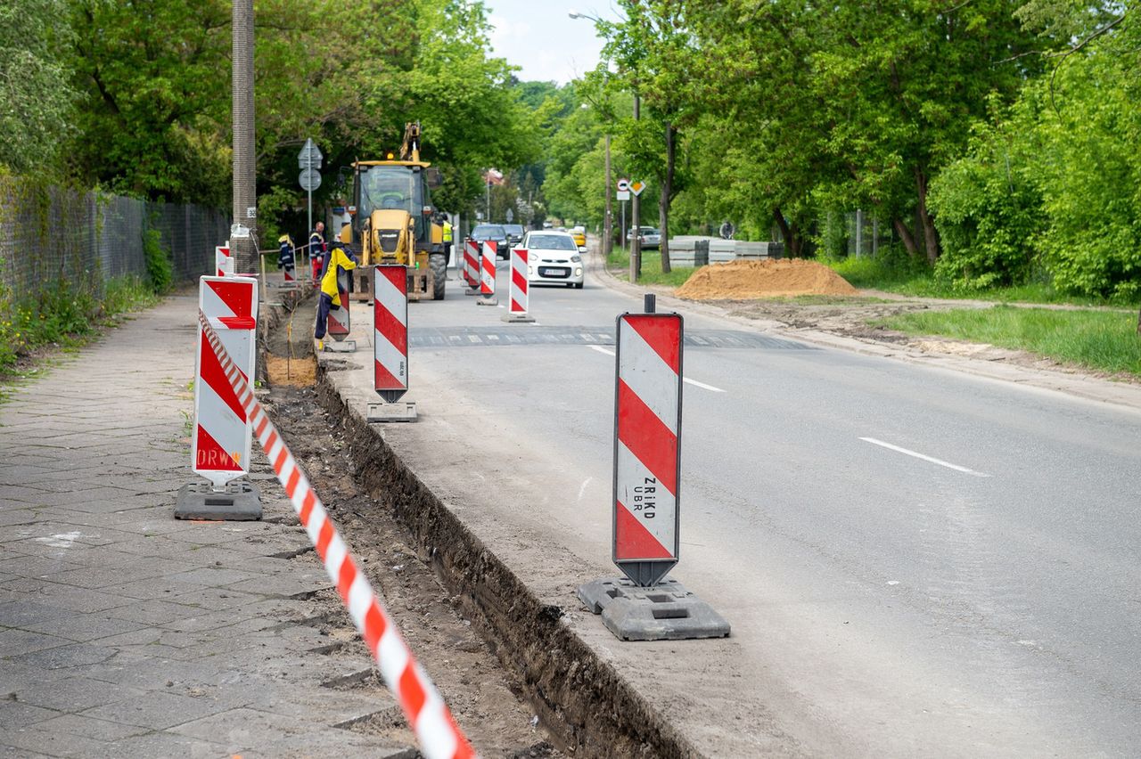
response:
<path id="1" fill-rule="evenodd" d="M 266 522 L 173 520 L 193 480 L 196 299 L 170 297 L 0 406 L 0 754 L 390 756 L 334 725 L 330 587 L 257 451 Z M 327 607 L 327 606 L 326 606 Z M 362 648 L 363 651 L 363 648 Z"/>

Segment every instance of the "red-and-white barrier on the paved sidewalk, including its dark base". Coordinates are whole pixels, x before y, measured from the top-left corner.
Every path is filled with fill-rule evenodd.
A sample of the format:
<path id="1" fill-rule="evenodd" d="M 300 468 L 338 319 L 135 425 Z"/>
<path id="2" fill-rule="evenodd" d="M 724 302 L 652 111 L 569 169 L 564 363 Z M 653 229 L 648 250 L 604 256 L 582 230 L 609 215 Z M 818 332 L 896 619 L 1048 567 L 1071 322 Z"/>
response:
<path id="1" fill-rule="evenodd" d="M 199 308 L 243 376 L 253 374 L 258 327 L 258 280 L 201 277 Z M 250 471 L 252 431 L 221 365 L 199 328 L 194 366 L 194 426 L 191 468 L 209 485 L 188 484 L 178 495 L 177 519 L 260 519 L 261 503 L 248 483 L 230 485 Z"/>

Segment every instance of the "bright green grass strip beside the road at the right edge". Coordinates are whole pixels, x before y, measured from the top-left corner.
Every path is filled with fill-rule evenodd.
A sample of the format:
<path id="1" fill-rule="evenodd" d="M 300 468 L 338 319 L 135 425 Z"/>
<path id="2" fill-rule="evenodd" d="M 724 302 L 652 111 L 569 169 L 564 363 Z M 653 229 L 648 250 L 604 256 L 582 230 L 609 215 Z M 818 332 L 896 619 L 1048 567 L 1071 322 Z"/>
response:
<path id="1" fill-rule="evenodd" d="M 1135 313 L 996 305 L 906 313 L 874 324 L 909 335 L 938 335 L 1030 351 L 1141 378 L 1141 335 Z"/>

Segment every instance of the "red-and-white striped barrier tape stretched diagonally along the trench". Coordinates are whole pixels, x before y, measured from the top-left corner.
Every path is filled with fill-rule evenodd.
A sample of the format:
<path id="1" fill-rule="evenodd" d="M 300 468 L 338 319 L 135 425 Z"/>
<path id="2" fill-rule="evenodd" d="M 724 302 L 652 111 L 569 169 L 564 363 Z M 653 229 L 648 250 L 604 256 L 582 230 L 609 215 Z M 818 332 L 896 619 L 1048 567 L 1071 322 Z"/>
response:
<path id="1" fill-rule="evenodd" d="M 211 321 L 201 311 L 199 323 L 207 334 L 215 359 L 222 366 L 225 377 L 251 419 L 258 442 L 261 443 L 277 479 L 285 488 L 285 495 L 293 504 L 301 525 L 309 534 L 309 540 L 316 547 L 317 556 L 321 557 L 329 578 L 337 585 L 337 591 L 369 651 L 377 660 L 385 683 L 404 710 L 421 751 L 428 759 L 475 757 L 475 751 L 452 718 L 452 712 L 436 691 L 436 686 L 416 663 L 396 623 L 385 611 L 367 578 L 349 554 L 348 546 L 329 519 L 324 505 L 309 484 L 309 479 L 269 422 L 242 372 L 230 361 L 219 335 L 211 328 Z"/>

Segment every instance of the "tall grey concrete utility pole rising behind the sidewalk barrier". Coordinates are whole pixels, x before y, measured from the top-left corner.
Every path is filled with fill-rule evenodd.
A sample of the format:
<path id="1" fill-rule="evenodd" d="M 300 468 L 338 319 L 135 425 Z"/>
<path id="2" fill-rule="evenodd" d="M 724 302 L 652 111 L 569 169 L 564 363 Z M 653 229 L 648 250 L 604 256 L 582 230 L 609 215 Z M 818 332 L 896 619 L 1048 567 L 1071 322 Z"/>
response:
<path id="1" fill-rule="evenodd" d="M 230 245 L 236 270 L 258 271 L 252 237 L 258 220 L 253 153 L 253 0 L 234 0 L 233 18 L 234 219 Z M 245 228 L 242 231 L 238 227 Z"/>

